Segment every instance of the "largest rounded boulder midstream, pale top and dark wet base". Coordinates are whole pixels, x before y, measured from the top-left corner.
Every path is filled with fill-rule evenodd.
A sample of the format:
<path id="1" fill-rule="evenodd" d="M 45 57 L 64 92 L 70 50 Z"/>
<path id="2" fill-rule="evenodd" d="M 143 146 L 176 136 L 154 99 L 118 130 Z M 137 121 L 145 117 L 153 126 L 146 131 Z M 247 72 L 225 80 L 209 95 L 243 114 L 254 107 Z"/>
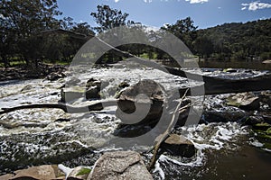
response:
<path id="1" fill-rule="evenodd" d="M 127 124 L 159 120 L 163 112 L 164 88 L 153 80 L 127 87 L 118 97 L 116 115 Z M 131 122 L 131 123 L 130 123 Z"/>

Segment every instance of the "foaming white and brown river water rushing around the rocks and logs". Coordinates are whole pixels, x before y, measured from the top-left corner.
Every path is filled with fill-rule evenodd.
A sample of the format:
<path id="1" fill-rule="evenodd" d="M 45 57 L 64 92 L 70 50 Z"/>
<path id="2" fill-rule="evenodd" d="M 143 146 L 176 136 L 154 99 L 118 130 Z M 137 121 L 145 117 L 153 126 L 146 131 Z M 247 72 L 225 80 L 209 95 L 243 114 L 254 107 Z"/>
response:
<path id="1" fill-rule="evenodd" d="M 220 69 L 201 70 L 198 73 L 223 78 L 244 78 L 266 73 L 244 69 L 234 73 L 222 72 Z M 142 79 L 153 79 L 165 89 L 188 84 L 182 77 L 168 75 L 151 67 L 127 68 L 121 64 L 67 74 L 70 76 L 66 79 L 53 82 L 44 79 L 0 82 L 0 107 L 58 103 L 61 86 L 75 78 L 80 80 L 79 85 L 86 85 L 91 77 L 108 82 L 109 85 L 102 90 L 105 99 L 113 99 L 117 85 L 123 81 L 133 85 Z M 197 83 L 190 82 L 190 85 L 194 84 Z M 227 95 L 207 96 L 204 106 L 220 104 Z M 93 102 L 96 100 L 89 102 L 81 97 L 70 103 L 86 105 Z M 57 109 L 27 109 L 1 115 L 0 174 L 43 164 L 93 166 L 103 152 L 123 149 L 108 143 L 116 136 L 116 129 L 121 122 L 115 116 L 115 111 L 114 106 L 102 112 L 75 114 Z M 154 179 L 269 179 L 271 149 L 263 148 L 255 132 L 247 126 L 235 121 L 212 122 L 179 127 L 174 132 L 192 140 L 197 153 L 191 158 L 164 153 L 155 164 L 152 172 Z M 137 146 L 135 144 L 126 149 L 150 148 Z M 151 156 L 151 153 L 144 153 L 145 162 Z"/>

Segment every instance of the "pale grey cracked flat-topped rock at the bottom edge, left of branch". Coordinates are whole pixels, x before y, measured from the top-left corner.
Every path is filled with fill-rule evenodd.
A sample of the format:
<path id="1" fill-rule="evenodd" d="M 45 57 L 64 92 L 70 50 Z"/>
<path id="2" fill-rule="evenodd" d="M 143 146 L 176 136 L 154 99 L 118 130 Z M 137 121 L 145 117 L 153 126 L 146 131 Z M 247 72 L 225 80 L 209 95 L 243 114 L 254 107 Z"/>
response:
<path id="1" fill-rule="evenodd" d="M 98 159 L 88 180 L 151 180 L 140 154 L 134 151 L 107 152 Z"/>

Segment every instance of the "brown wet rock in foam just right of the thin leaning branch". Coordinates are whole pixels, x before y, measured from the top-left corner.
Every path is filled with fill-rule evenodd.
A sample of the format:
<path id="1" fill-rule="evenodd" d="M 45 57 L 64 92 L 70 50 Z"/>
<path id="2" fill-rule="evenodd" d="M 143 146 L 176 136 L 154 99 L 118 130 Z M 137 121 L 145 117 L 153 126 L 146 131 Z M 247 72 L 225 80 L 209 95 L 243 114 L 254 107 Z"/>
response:
<path id="1" fill-rule="evenodd" d="M 196 153 L 196 148 L 192 141 L 178 134 L 171 134 L 164 140 L 161 148 L 169 151 L 174 156 L 192 157 Z"/>

